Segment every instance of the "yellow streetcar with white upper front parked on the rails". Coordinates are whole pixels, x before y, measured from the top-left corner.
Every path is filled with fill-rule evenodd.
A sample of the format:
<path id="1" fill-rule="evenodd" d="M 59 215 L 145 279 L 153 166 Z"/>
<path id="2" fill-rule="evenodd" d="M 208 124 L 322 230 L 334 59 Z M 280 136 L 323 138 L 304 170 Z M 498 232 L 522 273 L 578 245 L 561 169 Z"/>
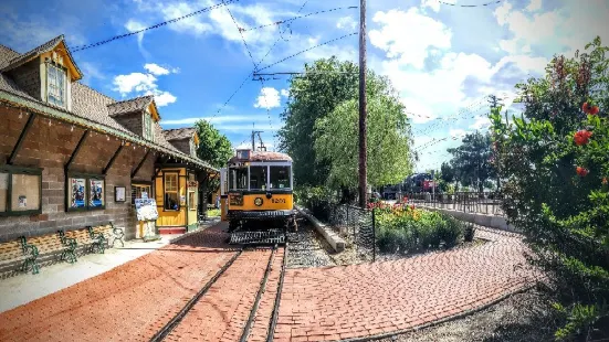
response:
<path id="1" fill-rule="evenodd" d="M 238 150 L 221 172 L 231 243 L 283 243 L 295 228 L 292 158 Z"/>

